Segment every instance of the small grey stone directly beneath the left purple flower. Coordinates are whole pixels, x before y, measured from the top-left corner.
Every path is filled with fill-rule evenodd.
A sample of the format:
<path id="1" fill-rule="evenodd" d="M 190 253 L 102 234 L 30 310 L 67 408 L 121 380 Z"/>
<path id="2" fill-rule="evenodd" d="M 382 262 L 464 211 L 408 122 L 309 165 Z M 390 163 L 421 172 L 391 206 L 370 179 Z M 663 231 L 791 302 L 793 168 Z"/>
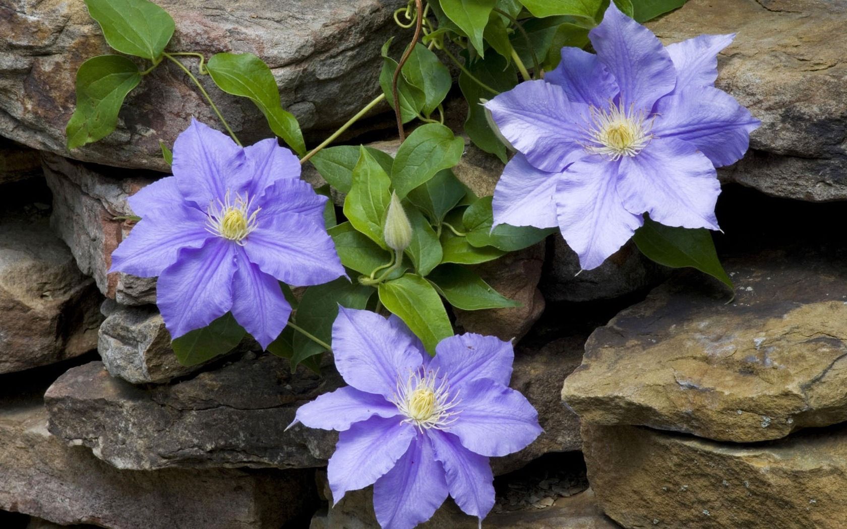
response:
<path id="1" fill-rule="evenodd" d="M 100 310 L 106 319 L 97 332 L 97 352 L 113 377 L 135 384 L 165 383 L 216 360 L 180 364 L 170 347 L 170 333 L 153 306 L 122 306 L 106 300 Z"/>

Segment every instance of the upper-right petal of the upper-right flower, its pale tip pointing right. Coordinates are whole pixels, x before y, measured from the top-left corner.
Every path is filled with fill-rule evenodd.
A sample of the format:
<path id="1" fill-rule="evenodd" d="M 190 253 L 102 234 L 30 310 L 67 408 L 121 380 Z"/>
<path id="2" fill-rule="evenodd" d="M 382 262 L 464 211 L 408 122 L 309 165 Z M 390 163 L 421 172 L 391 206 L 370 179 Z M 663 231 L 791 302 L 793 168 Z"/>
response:
<path id="1" fill-rule="evenodd" d="M 717 53 L 735 38 L 730 35 L 700 35 L 665 47 L 677 70 L 673 91 L 713 86 L 717 79 Z"/>

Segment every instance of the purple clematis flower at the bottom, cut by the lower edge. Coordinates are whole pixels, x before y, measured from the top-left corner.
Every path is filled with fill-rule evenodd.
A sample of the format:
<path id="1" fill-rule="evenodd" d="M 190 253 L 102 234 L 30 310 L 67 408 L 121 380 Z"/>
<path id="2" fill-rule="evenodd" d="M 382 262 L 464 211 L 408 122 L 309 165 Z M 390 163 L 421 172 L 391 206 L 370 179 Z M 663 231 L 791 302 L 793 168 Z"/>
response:
<path id="1" fill-rule="evenodd" d="M 441 340 L 430 359 L 400 318 L 342 306 L 332 348 L 350 385 L 302 405 L 292 425 L 340 431 L 328 468 L 335 503 L 374 483 L 386 529 L 429 520 L 448 493 L 484 518 L 494 506 L 488 458 L 541 433 L 529 401 L 507 388 L 512 344 L 461 334 Z"/>

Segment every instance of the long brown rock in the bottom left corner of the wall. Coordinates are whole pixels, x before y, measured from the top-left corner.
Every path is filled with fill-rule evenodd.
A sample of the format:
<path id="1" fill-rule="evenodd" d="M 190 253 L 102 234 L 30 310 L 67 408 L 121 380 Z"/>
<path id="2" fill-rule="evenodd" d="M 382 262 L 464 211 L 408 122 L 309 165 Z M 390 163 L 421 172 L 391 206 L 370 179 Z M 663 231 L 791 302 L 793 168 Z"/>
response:
<path id="1" fill-rule="evenodd" d="M 119 471 L 50 435 L 40 400 L 0 406 L 0 444 L 0 509 L 62 525 L 279 529 L 308 489 L 300 471 Z"/>

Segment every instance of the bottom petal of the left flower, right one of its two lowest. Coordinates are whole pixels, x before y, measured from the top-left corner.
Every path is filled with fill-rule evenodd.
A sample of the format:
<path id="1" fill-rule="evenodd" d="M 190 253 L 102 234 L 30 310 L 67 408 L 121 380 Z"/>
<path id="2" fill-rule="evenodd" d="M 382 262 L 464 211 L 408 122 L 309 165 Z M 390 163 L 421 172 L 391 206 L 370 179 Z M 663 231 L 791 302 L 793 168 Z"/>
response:
<path id="1" fill-rule="evenodd" d="M 232 316 L 262 349 L 267 349 L 285 328 L 291 305 L 282 294 L 280 282 L 250 262 L 244 248 L 238 246 L 235 256 Z"/>

